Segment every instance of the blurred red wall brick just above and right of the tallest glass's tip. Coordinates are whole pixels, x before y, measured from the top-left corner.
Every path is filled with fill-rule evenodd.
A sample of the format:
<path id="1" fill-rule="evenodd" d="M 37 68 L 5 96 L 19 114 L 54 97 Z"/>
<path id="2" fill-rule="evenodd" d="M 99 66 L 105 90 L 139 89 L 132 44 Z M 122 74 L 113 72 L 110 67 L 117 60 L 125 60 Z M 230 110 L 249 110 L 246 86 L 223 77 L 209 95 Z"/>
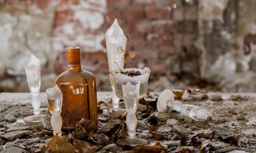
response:
<path id="1" fill-rule="evenodd" d="M 121 10 L 120 14 L 121 14 L 121 19 L 124 19 L 124 20 L 133 20 L 133 19 L 142 19 L 142 18 L 144 18 L 142 8 L 123 9 L 123 10 Z"/>

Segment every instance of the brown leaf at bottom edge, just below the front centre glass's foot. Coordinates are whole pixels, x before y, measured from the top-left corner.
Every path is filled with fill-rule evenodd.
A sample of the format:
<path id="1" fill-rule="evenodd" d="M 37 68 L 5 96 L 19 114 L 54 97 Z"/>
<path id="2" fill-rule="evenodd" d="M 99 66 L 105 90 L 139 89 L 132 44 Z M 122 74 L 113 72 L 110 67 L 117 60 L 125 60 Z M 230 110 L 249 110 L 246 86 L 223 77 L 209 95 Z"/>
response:
<path id="1" fill-rule="evenodd" d="M 165 149 L 159 142 L 157 142 L 154 146 L 141 145 L 129 151 L 129 153 L 147 153 L 147 152 L 164 153 Z"/>

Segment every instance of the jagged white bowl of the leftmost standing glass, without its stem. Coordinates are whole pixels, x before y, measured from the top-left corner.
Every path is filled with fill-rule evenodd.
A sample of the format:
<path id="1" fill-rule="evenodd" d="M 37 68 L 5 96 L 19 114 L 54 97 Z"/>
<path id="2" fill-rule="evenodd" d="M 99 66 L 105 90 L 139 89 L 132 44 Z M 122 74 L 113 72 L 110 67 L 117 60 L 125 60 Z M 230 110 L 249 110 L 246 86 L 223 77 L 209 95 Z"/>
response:
<path id="1" fill-rule="evenodd" d="M 25 67 L 27 82 L 32 96 L 37 96 L 41 84 L 41 61 L 31 54 L 29 64 Z"/>

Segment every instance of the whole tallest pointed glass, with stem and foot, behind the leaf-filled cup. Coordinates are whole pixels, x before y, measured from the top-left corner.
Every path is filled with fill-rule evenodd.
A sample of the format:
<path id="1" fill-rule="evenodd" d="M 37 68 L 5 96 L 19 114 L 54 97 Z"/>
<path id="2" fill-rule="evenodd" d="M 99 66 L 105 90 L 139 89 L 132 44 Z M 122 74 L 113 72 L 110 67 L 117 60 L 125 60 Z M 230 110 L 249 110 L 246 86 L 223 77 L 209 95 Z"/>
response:
<path id="1" fill-rule="evenodd" d="M 123 69 L 124 66 L 124 53 L 126 49 L 127 37 L 124 35 L 123 30 L 117 22 L 117 19 L 113 22 L 111 27 L 106 31 L 106 52 L 108 54 L 109 71 Z M 110 80 L 111 79 L 110 74 Z M 107 116 L 119 116 L 124 112 L 119 108 L 119 98 L 115 95 L 115 87 L 111 81 L 112 88 L 112 104 L 113 108 L 111 112 L 103 112 Z"/>

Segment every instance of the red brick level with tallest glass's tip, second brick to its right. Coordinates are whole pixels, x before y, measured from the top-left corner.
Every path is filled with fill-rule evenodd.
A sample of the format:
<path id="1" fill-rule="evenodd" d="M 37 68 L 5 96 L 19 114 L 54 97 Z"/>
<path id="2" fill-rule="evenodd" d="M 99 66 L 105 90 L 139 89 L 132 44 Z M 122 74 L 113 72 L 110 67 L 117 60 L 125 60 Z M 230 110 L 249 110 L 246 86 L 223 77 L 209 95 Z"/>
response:
<path id="1" fill-rule="evenodd" d="M 156 33 L 168 33 L 177 31 L 177 23 L 172 20 L 157 20 L 154 21 Z"/>

